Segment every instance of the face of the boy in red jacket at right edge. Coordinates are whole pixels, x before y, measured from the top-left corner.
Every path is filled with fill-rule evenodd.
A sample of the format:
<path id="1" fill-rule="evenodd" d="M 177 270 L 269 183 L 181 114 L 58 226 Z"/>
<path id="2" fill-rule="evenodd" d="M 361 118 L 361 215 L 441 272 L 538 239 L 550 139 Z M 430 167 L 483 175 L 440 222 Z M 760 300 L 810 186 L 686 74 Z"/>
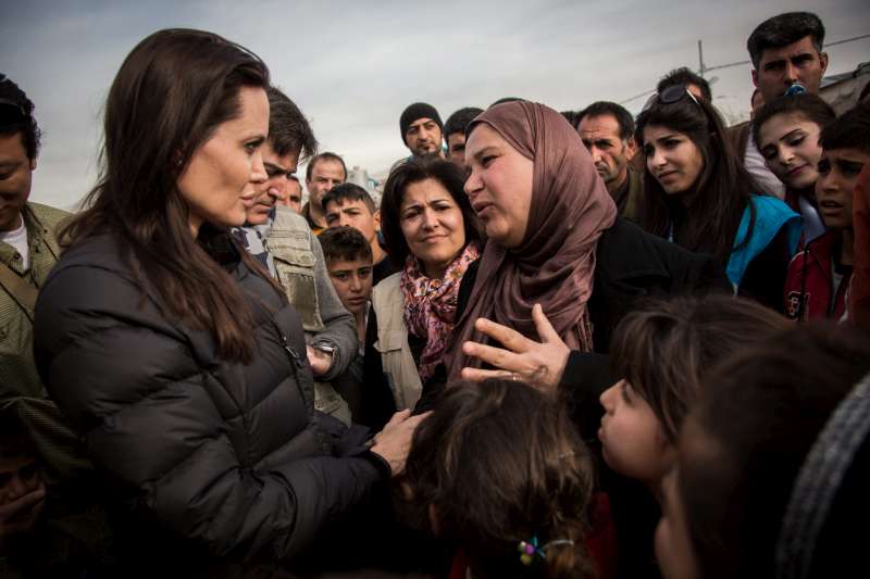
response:
<path id="1" fill-rule="evenodd" d="M 870 154 L 859 149 L 822 151 L 819 179 L 816 181 L 816 201 L 828 227 L 852 227 L 852 196 L 858 175 L 868 163 Z"/>

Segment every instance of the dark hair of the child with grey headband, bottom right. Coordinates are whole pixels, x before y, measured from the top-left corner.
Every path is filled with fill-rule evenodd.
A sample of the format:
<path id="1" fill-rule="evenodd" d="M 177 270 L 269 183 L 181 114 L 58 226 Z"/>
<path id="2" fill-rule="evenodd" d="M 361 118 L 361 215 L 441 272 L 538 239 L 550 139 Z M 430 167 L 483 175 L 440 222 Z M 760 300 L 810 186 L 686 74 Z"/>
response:
<path id="1" fill-rule="evenodd" d="M 784 577 L 774 553 L 794 481 L 834 408 L 868 372 L 870 336 L 825 322 L 742 349 L 711 373 L 686 418 L 678 484 L 703 577 Z M 866 488 L 854 498 L 847 509 L 861 514 L 853 520 L 866 516 Z M 863 543 L 855 524 L 841 527 L 822 540 L 841 556 L 807 577 L 842 577 L 832 572 L 836 559 L 863 556 L 862 546 L 845 546 Z"/>

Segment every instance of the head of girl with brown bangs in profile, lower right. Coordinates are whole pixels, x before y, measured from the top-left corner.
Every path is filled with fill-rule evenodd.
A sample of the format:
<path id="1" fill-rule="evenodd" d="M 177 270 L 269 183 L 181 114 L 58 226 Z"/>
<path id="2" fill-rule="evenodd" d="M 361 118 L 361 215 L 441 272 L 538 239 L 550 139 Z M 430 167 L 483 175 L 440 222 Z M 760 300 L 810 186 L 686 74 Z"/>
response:
<path id="1" fill-rule="evenodd" d="M 787 327 L 770 309 L 729 295 L 654 300 L 626 315 L 610 345 L 613 375 L 623 378 L 600 397 L 605 462 L 659 498 L 707 372 L 742 345 Z"/>

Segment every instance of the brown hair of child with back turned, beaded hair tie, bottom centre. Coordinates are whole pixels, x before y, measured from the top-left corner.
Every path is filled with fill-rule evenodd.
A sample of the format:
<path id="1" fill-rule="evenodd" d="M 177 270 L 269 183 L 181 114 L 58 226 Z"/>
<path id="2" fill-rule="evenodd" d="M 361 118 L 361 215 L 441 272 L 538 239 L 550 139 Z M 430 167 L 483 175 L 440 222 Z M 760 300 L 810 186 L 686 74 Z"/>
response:
<path id="1" fill-rule="evenodd" d="M 400 512 L 462 549 L 475 578 L 591 577 L 584 547 L 588 451 L 564 408 L 520 382 L 448 387 L 418 427 Z M 544 557 L 520 559 L 537 538 Z"/>

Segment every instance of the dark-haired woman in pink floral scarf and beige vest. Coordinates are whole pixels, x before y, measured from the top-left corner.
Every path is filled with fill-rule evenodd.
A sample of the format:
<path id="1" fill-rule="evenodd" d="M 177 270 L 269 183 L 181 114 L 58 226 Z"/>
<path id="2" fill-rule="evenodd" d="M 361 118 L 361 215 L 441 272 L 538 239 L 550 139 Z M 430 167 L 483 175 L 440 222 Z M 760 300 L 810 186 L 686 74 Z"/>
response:
<path id="1" fill-rule="evenodd" d="M 400 272 L 372 291 L 365 366 L 366 383 L 391 392 L 396 410 L 413 408 L 435 375 L 453 328 L 460 282 L 483 246 L 463 182 L 453 163 L 412 159 L 394 168 L 384 187 L 381 229 Z M 365 424 L 383 424 L 389 410 Z"/>

